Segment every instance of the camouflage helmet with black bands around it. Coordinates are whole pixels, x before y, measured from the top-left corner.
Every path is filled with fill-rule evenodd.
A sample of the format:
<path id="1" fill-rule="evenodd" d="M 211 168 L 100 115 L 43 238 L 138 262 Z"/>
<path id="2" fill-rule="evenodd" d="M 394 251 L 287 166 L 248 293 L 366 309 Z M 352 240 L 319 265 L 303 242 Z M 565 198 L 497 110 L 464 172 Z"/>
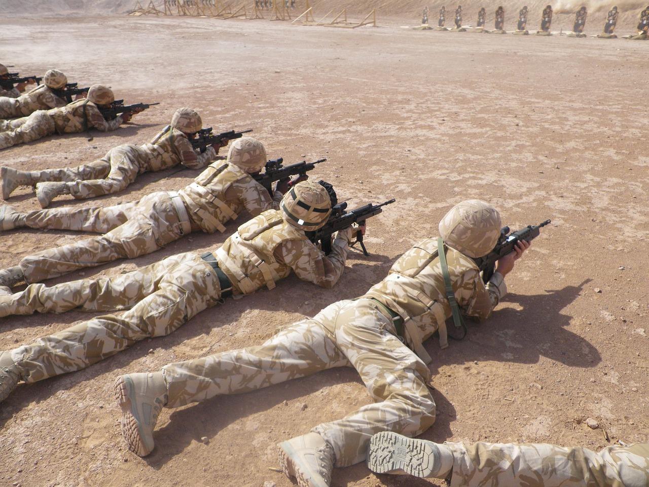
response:
<path id="1" fill-rule="evenodd" d="M 305 231 L 317 230 L 331 214 L 331 198 L 321 184 L 302 181 L 282 198 L 282 212 L 288 223 Z"/>

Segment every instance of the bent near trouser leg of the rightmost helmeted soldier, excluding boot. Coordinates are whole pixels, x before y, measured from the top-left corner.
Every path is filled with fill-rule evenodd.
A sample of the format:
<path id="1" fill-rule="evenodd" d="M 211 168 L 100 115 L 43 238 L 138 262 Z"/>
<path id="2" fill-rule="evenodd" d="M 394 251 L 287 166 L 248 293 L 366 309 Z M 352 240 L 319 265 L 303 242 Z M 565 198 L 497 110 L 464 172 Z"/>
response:
<path id="1" fill-rule="evenodd" d="M 336 343 L 378 401 L 313 428 L 334 448 L 337 467 L 364 460 L 377 432 L 416 436 L 434 423 L 435 402 L 426 386 L 430 371 L 400 342 L 376 303 L 360 299 L 339 313 Z"/>

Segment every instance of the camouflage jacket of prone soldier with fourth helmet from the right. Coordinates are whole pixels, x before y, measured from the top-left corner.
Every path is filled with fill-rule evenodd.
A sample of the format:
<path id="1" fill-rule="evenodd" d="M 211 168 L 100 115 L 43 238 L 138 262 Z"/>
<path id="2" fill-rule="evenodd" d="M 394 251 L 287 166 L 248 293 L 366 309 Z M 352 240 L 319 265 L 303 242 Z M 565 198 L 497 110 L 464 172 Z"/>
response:
<path id="1" fill-rule="evenodd" d="M 140 173 L 160 171 L 182 164 L 190 169 L 202 169 L 216 157 L 212 146 L 198 154 L 187 136 L 169 125 L 158 132 L 151 142 L 138 147 Z"/>

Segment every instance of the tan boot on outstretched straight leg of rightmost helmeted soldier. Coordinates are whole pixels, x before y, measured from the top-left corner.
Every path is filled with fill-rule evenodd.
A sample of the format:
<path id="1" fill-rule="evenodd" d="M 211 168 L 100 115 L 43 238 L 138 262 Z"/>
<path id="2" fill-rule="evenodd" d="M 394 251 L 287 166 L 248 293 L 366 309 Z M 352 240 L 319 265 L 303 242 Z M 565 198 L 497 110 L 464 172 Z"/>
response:
<path id="1" fill-rule="evenodd" d="M 167 385 L 162 372 L 120 375 L 114 388 L 122 410 L 121 431 L 129 450 L 147 456 L 153 450 L 153 429 L 162 406 L 167 404 Z"/>

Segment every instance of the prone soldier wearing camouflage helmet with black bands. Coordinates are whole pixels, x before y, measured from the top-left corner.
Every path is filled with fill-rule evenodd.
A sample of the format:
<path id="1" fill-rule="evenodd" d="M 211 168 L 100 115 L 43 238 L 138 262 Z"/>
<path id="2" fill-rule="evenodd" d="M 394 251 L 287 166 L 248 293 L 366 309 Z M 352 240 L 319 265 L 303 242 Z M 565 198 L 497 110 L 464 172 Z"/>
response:
<path id="1" fill-rule="evenodd" d="M 86 368 L 135 342 L 165 336 L 230 295 L 251 294 L 291 272 L 303 281 L 332 288 L 343 269 L 354 231 L 336 234 L 325 256 L 306 236 L 326 223 L 332 198 L 323 185 L 304 181 L 247 223 L 214 252 L 171 256 L 109 279 L 86 279 L 51 288 L 32 284 L 0 296 L 1 316 L 34 312 L 124 310 L 79 323 L 31 345 L 0 352 L 0 401 L 19 381 L 27 383 Z"/>

